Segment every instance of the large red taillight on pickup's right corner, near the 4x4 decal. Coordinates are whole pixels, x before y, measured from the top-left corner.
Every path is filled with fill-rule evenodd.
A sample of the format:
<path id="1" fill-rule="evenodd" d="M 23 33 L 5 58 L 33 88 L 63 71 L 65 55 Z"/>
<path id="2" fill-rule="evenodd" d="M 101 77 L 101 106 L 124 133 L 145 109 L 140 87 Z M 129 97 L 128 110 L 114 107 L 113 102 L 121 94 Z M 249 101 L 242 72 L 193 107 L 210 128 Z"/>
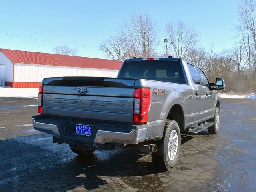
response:
<path id="1" fill-rule="evenodd" d="M 150 106 L 150 88 L 135 88 L 133 104 L 133 122 L 146 123 Z"/>

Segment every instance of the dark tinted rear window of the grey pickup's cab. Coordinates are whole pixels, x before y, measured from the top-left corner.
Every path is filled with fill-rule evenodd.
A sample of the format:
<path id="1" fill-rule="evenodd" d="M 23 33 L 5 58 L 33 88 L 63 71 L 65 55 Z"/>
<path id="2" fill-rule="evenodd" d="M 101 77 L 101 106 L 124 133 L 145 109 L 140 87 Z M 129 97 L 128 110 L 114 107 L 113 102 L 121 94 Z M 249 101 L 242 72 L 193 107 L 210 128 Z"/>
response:
<path id="1" fill-rule="evenodd" d="M 178 61 L 125 62 L 118 77 L 186 84 L 181 64 Z"/>

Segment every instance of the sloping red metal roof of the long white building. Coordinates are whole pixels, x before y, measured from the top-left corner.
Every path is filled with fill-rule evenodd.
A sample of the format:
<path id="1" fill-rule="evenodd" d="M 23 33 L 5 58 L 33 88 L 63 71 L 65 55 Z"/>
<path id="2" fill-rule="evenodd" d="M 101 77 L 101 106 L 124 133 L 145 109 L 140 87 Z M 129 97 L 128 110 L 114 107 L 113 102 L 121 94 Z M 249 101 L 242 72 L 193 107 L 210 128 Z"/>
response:
<path id="1" fill-rule="evenodd" d="M 70 66 L 119 70 L 122 62 L 108 59 L 78 57 L 50 53 L 0 49 L 14 63 Z"/>

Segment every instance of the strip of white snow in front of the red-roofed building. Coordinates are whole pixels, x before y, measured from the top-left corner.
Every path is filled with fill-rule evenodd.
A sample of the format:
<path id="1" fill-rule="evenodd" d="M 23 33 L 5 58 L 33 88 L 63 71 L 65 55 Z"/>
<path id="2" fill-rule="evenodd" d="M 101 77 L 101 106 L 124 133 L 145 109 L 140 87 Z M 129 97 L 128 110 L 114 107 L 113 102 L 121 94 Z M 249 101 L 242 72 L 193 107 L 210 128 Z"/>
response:
<path id="1" fill-rule="evenodd" d="M 0 87 L 0 97 L 37 97 L 38 88 Z"/>

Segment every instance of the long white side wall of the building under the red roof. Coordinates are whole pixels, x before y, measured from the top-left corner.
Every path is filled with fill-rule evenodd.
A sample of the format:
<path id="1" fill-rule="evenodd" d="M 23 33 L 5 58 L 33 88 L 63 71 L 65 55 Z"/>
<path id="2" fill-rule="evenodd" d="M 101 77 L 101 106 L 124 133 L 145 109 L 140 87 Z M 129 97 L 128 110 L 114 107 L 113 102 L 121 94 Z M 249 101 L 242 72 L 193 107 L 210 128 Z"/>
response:
<path id="1" fill-rule="evenodd" d="M 64 67 L 38 64 L 14 64 L 14 82 L 42 82 L 45 77 L 98 76 L 116 77 L 118 70 Z"/>

